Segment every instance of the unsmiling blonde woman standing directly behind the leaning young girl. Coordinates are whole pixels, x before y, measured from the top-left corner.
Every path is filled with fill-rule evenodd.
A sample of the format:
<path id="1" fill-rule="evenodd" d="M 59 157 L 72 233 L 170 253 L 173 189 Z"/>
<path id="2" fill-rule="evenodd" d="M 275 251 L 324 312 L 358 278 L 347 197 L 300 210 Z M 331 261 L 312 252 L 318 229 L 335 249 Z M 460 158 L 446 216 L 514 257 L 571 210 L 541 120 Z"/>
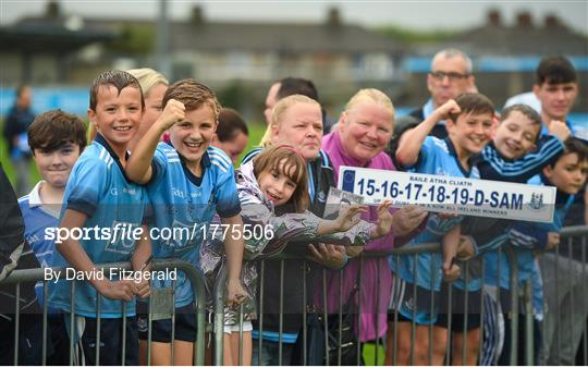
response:
<path id="1" fill-rule="evenodd" d="M 322 140 L 322 112 L 320 105 L 306 96 L 293 95 L 280 99 L 272 109 L 272 115 L 266 136 L 261 142 L 262 147 L 279 144 L 292 145 L 304 158 L 308 174 L 308 210 L 318 217 L 324 212 L 324 204 L 329 187 L 334 186 L 334 175 L 329 157 L 320 149 Z M 243 164 L 252 161 L 254 157 L 260 154 L 260 148 L 256 148 L 245 156 Z M 293 246 L 296 247 L 296 246 Z M 301 248 L 301 246 L 298 246 Z M 304 254 L 316 262 L 330 268 L 340 268 L 346 260 L 345 248 L 343 246 L 332 246 L 323 244 L 311 244 L 303 246 Z M 286 261 L 284 273 L 297 274 L 305 264 L 303 260 Z M 311 261 L 310 272 L 315 273 L 320 269 Z M 308 274 L 311 279 L 313 274 Z M 283 279 L 283 354 L 282 365 L 302 364 L 301 356 L 295 354 L 294 345 L 303 328 L 302 310 L 306 306 L 313 306 L 314 283 L 306 284 L 307 304 L 303 304 L 304 289 L 301 277 L 285 277 Z M 254 365 L 279 365 L 278 342 L 272 339 L 280 330 L 279 322 L 279 299 L 281 292 L 280 267 L 277 261 L 266 262 L 264 277 L 264 342 L 262 360 L 257 360 L 258 353 L 255 351 L 257 344 L 254 342 Z M 256 328 L 254 327 L 254 330 Z M 257 338 L 257 335 L 254 335 Z"/>

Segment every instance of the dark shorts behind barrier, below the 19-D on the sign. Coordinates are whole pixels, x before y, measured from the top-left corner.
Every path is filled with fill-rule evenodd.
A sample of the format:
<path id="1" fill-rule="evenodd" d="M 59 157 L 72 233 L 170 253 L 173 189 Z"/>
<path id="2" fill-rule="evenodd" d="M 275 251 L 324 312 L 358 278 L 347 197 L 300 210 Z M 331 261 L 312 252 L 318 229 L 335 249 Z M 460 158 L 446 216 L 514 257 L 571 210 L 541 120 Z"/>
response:
<path id="1" fill-rule="evenodd" d="M 463 331 L 464 325 L 467 331 L 480 327 L 481 291 L 469 291 L 467 292 L 466 296 L 466 292 L 464 290 L 452 286 L 451 310 L 449 308 L 449 285 L 446 283 L 443 283 L 443 285 L 441 286 L 441 304 L 439 305 L 439 317 L 437 318 L 436 326 L 448 329 L 449 314 L 451 313 L 452 331 Z"/>

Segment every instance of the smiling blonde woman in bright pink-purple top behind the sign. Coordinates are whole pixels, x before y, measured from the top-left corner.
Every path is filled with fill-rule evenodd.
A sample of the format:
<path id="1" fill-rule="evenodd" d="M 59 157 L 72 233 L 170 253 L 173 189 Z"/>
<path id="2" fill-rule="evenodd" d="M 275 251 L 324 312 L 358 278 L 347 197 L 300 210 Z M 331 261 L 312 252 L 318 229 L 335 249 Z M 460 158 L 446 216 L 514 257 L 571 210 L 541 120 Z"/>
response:
<path id="1" fill-rule="evenodd" d="M 329 154 L 335 179 L 341 166 L 363 167 L 395 171 L 394 164 L 384 147 L 392 137 L 394 107 L 392 101 L 378 89 L 362 89 L 347 102 L 335 130 L 322 138 L 322 149 Z M 364 252 L 391 250 L 394 237 L 404 236 L 414 231 L 427 217 L 427 211 L 418 207 L 396 210 L 390 233 L 371 241 L 363 247 L 347 247 L 347 255 L 355 257 Z M 367 221 L 377 220 L 376 207 L 370 207 L 363 215 Z M 396 240 L 399 242 L 399 240 Z M 381 338 L 387 331 L 387 308 L 390 302 L 392 274 L 385 257 L 364 258 L 360 299 L 359 341 L 367 342 Z M 359 259 L 352 258 L 343 272 L 343 304 L 348 298 L 357 280 Z M 340 274 L 328 271 L 327 274 L 328 311 L 339 311 Z M 380 279 L 378 282 L 378 278 Z M 322 286 L 316 293 L 316 299 L 322 304 Z M 378 330 L 376 330 L 378 326 Z"/>

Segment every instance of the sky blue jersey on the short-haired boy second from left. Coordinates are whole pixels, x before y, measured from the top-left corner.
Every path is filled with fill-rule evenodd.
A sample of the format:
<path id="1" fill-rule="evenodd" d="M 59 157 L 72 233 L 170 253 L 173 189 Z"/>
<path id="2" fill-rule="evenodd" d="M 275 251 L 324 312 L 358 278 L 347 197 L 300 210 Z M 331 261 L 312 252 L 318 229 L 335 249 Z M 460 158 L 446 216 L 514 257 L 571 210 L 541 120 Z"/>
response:
<path id="1" fill-rule="evenodd" d="M 108 142 L 98 135 L 84 150 L 70 174 L 63 195 L 61 218 L 65 209 L 85 213 L 88 218 L 84 229 L 97 229 L 79 240 L 79 244 L 94 264 L 130 261 L 135 250 L 135 241 L 118 234 L 114 228 L 139 228 L 144 222 L 147 192 L 143 186 L 127 180 L 117 154 Z M 60 221 L 61 221 L 60 218 Z M 111 235 L 106 234 L 110 231 Z M 121 233 L 119 231 L 119 233 Z M 53 253 L 53 267 L 70 266 L 58 252 Z M 96 276 L 93 272 L 91 276 Z M 118 272 L 106 279 L 117 281 Z M 70 282 L 61 274 L 57 284 L 50 285 L 49 305 L 66 313 L 70 311 Z M 87 279 L 87 278 L 86 278 Z M 96 317 L 97 292 L 87 280 L 76 281 L 75 313 L 86 317 Z M 122 302 L 100 297 L 101 317 L 122 317 Z M 135 315 L 135 301 L 126 303 L 128 316 Z"/>

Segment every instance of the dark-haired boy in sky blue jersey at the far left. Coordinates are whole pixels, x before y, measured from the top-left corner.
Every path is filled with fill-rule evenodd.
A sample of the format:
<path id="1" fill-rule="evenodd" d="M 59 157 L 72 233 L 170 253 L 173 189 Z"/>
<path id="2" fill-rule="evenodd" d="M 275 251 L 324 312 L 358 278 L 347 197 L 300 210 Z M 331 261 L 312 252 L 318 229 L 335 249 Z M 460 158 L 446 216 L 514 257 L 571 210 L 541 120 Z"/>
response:
<path id="1" fill-rule="evenodd" d="M 37 115 L 27 130 L 28 145 L 42 181 L 19 199 L 25 224 L 25 238 L 41 267 L 50 267 L 54 242 L 46 238 L 46 229 L 59 225 L 59 212 L 70 172 L 86 147 L 86 126 L 76 115 L 52 110 Z M 42 306 L 42 282 L 35 286 Z M 69 364 L 68 334 L 61 315 L 49 310 L 48 333 L 51 347 L 49 365 Z"/>

